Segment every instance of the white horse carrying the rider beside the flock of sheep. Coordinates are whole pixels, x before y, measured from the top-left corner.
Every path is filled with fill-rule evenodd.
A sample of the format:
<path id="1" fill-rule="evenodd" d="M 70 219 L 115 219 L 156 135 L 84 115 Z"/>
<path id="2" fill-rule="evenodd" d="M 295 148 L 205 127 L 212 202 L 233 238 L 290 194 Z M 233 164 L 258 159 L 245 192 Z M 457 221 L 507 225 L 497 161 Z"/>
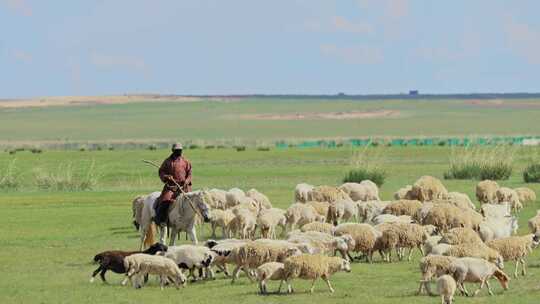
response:
<path id="1" fill-rule="evenodd" d="M 155 217 L 154 202 L 160 196 L 161 192 L 152 192 L 144 199 L 144 207 L 141 216 L 141 250 L 145 244 L 153 244 L 155 224 L 152 218 Z M 202 217 L 205 222 L 210 220 L 209 208 L 204 201 L 204 195 L 201 191 L 193 191 L 185 194 L 180 194 L 174 203 L 169 207 L 169 228 L 171 230 L 169 245 L 176 244 L 176 236 L 180 231 L 185 231 L 191 241 L 198 243 L 197 234 L 195 231 L 195 220 L 197 216 Z M 167 228 L 160 227 L 159 242 L 165 244 Z"/>

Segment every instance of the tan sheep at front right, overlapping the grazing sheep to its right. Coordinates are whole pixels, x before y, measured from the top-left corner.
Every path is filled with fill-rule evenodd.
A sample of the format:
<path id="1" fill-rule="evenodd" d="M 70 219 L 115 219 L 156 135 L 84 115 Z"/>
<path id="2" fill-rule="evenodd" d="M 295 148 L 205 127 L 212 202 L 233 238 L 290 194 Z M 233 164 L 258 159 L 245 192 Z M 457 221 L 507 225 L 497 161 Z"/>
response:
<path id="1" fill-rule="evenodd" d="M 429 282 L 433 278 L 445 275 L 452 274 L 452 263 L 456 260 L 454 257 L 440 256 L 440 255 L 428 255 L 423 257 L 420 260 L 420 271 L 422 273 L 422 278 L 420 280 L 420 287 L 418 288 L 417 294 L 421 294 L 424 288 L 429 295 L 433 295 Z"/>

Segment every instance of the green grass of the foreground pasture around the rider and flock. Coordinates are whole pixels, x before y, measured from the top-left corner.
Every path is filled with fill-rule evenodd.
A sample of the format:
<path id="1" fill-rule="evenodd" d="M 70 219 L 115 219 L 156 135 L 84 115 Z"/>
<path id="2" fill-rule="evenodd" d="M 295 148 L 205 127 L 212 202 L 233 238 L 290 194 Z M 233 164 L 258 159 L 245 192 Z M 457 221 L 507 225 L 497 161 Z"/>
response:
<path id="1" fill-rule="evenodd" d="M 29 112 L 32 111 L 37 110 Z M 138 115 L 142 114 L 141 111 Z M 88 116 L 87 125 L 83 124 L 81 128 L 89 128 L 92 117 Z M 93 129 L 89 134 L 105 137 L 106 133 L 100 133 L 105 131 L 99 126 L 99 119 L 104 118 L 96 118 L 98 130 Z M 1 123 L 5 124 L 5 121 Z M 30 136 L 30 129 L 25 126 L 22 131 Z M 53 130 L 53 126 L 43 128 L 32 136 L 44 138 L 48 136 L 45 134 L 54 134 Z M 157 127 L 153 130 L 144 134 L 152 136 Z M 209 130 L 205 132 L 211 134 Z M 9 132 L 2 133 L 6 136 Z M 373 149 L 381 156 L 383 167 L 388 172 L 386 183 L 381 188 L 383 199 L 390 199 L 395 190 L 413 183 L 421 175 L 441 178 L 448 168 L 451 152 L 448 147 Z M 510 187 L 523 185 L 521 170 L 534 153 L 538 153 L 538 149 L 518 150 L 511 179 L 500 184 Z M 22 172 L 19 178 L 23 185 L 18 191 L 0 193 L 0 303 L 440 303 L 439 298 L 414 295 L 420 278 L 418 255 L 412 262 L 385 264 L 377 258 L 372 265 L 355 263 L 352 273 L 338 273 L 333 277 L 335 294 L 328 293 L 322 281 L 317 283 L 314 295 L 306 294 L 309 282 L 297 280 L 294 281 L 297 292 L 293 295 L 259 296 L 256 284 L 249 284 L 242 278 L 231 286 L 230 280 L 223 279 L 221 274 L 215 281 L 188 284 L 182 290 L 167 288 L 160 291 L 154 280 L 149 286 L 134 290 L 120 286 L 122 276 L 112 273 L 108 274 L 110 285 L 99 281 L 90 284 L 90 274 L 96 268 L 90 261 L 95 253 L 107 249 L 137 248 L 138 235 L 131 225 L 131 200 L 137 194 L 158 190 L 160 186 L 155 169 L 143 164 L 141 159 L 160 161 L 167 154 L 165 150 L 0 153 L 0 170 L 16 159 L 16 170 Z M 349 168 L 350 156 L 351 150 L 347 148 L 269 152 L 254 149 L 245 152 L 232 149 L 187 151 L 187 157 L 194 166 L 196 188 L 253 187 L 266 193 L 273 204 L 281 208 L 291 204 L 294 186 L 299 182 L 340 183 Z M 36 168 L 56 170 L 71 163 L 78 169 L 92 162 L 101 176 L 93 191 L 47 192 L 37 190 L 33 184 Z M 444 183 L 451 191 L 465 192 L 474 197 L 476 181 Z M 527 186 L 540 194 L 540 184 Z M 520 213 L 520 233 L 527 232 L 526 222 L 538 208 L 538 202 L 529 203 Z M 208 236 L 208 227 L 199 234 Z M 511 263 L 506 266 L 507 272 L 512 273 L 514 266 Z M 477 298 L 458 297 L 457 303 L 534 303 L 540 297 L 539 277 L 540 251 L 537 249 L 529 258 L 529 274 L 512 280 L 510 290 L 503 293 L 494 281 L 495 297 L 487 296 L 487 291 L 484 291 Z M 277 282 L 271 283 L 270 288 L 274 287 L 277 288 Z"/>

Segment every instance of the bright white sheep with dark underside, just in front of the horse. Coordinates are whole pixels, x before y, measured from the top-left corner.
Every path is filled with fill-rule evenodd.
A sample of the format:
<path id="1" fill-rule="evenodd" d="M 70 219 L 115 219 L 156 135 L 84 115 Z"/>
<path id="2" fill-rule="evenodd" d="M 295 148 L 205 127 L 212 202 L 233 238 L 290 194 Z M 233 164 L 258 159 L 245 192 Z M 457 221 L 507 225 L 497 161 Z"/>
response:
<path id="1" fill-rule="evenodd" d="M 214 274 L 210 268 L 217 253 L 210 248 L 199 245 L 169 246 L 167 252 L 163 254 L 166 258 L 173 260 L 181 269 L 188 269 L 189 275 L 196 280 L 194 270 L 206 271 L 207 278 L 213 278 Z"/>

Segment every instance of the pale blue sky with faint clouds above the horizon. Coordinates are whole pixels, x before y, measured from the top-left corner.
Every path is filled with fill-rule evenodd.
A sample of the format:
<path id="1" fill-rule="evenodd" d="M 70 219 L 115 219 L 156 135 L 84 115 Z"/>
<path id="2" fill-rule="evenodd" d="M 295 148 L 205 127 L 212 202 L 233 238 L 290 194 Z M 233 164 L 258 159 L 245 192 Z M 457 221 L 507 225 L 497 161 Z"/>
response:
<path id="1" fill-rule="evenodd" d="M 0 98 L 540 92 L 540 1 L 0 0 Z"/>

